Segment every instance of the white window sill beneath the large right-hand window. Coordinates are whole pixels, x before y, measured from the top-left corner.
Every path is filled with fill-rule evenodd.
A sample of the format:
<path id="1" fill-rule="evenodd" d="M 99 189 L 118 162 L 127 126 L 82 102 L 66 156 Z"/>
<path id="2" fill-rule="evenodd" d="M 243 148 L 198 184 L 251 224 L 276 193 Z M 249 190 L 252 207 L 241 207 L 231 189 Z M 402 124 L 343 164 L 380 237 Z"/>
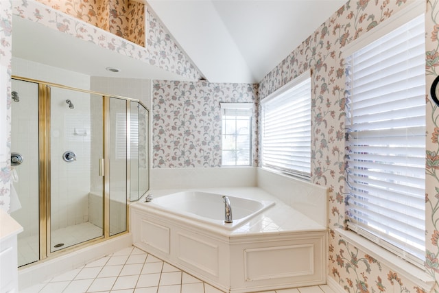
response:
<path id="1" fill-rule="evenodd" d="M 367 253 L 368 255 L 377 259 L 377 261 L 379 261 L 382 265 L 398 272 L 401 277 L 405 277 L 406 279 L 410 280 L 419 288 L 425 290 L 425 292 L 431 292 L 435 281 L 433 277 L 425 272 L 425 270 L 412 265 L 412 263 L 408 263 L 407 261 L 397 257 L 388 250 L 385 250 L 370 240 L 361 237 L 353 231 L 337 228 L 335 229 L 335 232 L 347 242 L 353 244 L 359 250 L 362 250 L 364 253 Z"/>

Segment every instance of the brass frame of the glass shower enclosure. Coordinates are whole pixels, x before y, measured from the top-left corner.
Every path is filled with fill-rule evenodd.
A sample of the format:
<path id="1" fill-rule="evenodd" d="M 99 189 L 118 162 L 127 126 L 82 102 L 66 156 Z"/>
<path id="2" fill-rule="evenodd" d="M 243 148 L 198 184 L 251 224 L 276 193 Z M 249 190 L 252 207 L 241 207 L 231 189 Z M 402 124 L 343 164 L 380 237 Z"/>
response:
<path id="1" fill-rule="evenodd" d="M 71 86 L 64 86 L 62 84 L 54 84 L 51 82 L 43 82 L 41 80 L 34 80 L 31 78 L 23 78 L 19 76 L 12 75 L 12 79 L 21 80 L 24 82 L 33 82 L 38 84 L 38 154 L 39 154 L 39 260 L 34 263 L 29 263 L 23 267 L 31 266 L 32 264 L 39 263 L 40 261 L 54 257 L 60 256 L 66 253 L 70 253 L 72 250 L 77 250 L 84 246 L 89 246 L 91 244 L 99 243 L 129 233 L 129 204 L 130 204 L 130 102 L 137 102 L 141 104 L 148 112 L 149 109 L 139 100 L 132 99 L 130 97 L 123 97 L 120 95 L 108 95 L 106 93 L 99 93 L 97 91 L 89 91 L 84 89 L 78 89 Z M 59 89 L 67 89 L 71 91 L 79 91 L 82 93 L 89 93 L 91 95 L 100 96 L 103 99 L 103 145 L 102 153 L 104 157 L 99 159 L 99 176 L 104 177 L 104 191 L 103 191 L 103 235 L 101 237 L 96 237 L 94 239 L 89 239 L 86 242 L 81 242 L 73 246 L 69 246 L 60 250 L 51 252 L 51 150 L 50 150 L 50 137 L 51 137 L 51 121 L 50 121 L 50 104 L 51 104 L 51 87 L 57 87 Z M 110 144 L 110 98 L 124 99 L 126 101 L 126 119 L 127 119 L 127 133 L 126 133 L 126 229 L 121 233 L 116 233 L 115 235 L 110 235 L 110 156 L 109 154 L 109 144 Z M 93 98 L 93 97 L 91 97 Z M 149 131 L 149 130 L 148 130 Z"/>

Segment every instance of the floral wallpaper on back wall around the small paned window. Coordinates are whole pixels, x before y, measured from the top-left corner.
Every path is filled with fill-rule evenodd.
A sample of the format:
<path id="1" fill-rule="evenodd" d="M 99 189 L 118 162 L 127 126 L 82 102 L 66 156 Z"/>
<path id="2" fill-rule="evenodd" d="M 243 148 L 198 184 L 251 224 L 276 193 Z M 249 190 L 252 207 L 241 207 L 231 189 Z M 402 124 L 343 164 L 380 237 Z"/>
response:
<path id="1" fill-rule="evenodd" d="M 153 82 L 152 167 L 220 167 L 220 102 L 254 103 L 257 84 Z M 253 158 L 257 164 L 257 121 L 252 121 Z"/>

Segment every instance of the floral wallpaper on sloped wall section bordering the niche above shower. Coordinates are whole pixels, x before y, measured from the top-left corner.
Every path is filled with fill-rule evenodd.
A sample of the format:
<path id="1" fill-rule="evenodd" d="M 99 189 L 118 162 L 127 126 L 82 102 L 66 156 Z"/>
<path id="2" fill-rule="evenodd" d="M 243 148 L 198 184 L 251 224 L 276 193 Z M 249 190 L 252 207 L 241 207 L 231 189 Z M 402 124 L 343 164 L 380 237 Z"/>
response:
<path id="1" fill-rule="evenodd" d="M 56 2 L 59 3 L 59 1 Z M 177 47 L 174 39 L 169 36 L 152 12 L 147 14 L 152 18 L 148 19 L 150 30 L 148 33 L 145 32 L 147 47 L 141 47 L 94 25 L 73 19 L 71 16 L 60 13 L 36 0 L 12 0 L 12 14 L 80 38 L 104 49 L 115 51 L 123 56 L 176 73 L 187 80 L 199 80 L 202 76 L 186 57 L 186 54 Z M 151 29 L 151 27 L 156 29 Z M 140 34 L 135 30 L 133 32 Z"/>

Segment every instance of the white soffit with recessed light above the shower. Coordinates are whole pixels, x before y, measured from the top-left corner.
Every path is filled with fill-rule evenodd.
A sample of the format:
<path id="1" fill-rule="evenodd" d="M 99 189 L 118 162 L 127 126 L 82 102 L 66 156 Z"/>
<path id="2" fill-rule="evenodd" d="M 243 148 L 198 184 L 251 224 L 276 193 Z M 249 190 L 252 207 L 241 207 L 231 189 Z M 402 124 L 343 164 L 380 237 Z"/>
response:
<path id="1" fill-rule="evenodd" d="M 12 25 L 12 56 L 17 58 L 90 76 L 184 80 L 175 73 L 16 15 L 12 16 Z M 119 72 L 108 71 L 107 67 L 115 67 Z"/>

